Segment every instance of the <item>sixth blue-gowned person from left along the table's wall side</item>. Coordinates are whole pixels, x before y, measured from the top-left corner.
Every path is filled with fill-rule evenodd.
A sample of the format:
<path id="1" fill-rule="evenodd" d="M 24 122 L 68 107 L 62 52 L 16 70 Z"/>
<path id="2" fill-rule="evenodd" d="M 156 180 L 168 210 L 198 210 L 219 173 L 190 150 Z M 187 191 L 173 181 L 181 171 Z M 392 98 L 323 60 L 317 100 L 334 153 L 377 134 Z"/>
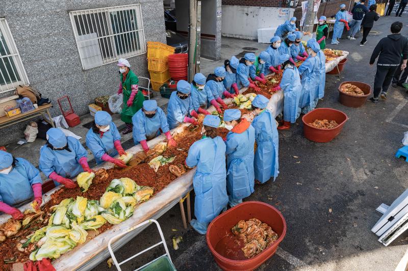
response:
<path id="1" fill-rule="evenodd" d="M 206 76 L 202 73 L 196 73 L 191 82 L 191 99 L 194 111 L 205 115 L 210 114 L 206 109 L 208 103 L 214 100 L 214 96 L 210 89 L 206 88 Z"/>

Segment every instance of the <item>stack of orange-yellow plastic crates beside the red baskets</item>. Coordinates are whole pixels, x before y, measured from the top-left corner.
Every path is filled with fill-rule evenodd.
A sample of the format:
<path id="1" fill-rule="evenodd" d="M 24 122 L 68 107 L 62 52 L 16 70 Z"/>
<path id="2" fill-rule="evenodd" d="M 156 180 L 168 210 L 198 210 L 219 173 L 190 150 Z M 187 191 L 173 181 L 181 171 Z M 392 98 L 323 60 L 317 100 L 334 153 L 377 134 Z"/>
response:
<path id="1" fill-rule="evenodd" d="M 174 47 L 160 42 L 147 42 L 147 69 L 154 91 L 159 91 L 160 86 L 170 79 L 167 56 L 173 53 Z"/>

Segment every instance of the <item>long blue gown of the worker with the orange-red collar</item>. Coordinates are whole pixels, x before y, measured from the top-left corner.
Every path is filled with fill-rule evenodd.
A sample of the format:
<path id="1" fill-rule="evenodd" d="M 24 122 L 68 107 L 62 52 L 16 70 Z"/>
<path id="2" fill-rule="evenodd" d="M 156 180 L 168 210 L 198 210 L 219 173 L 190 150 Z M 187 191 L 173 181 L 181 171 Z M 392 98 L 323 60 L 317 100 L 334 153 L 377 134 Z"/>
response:
<path id="1" fill-rule="evenodd" d="M 242 133 L 226 135 L 227 181 L 226 189 L 231 202 L 242 200 L 253 193 L 253 145 L 255 130 L 249 125 Z"/>

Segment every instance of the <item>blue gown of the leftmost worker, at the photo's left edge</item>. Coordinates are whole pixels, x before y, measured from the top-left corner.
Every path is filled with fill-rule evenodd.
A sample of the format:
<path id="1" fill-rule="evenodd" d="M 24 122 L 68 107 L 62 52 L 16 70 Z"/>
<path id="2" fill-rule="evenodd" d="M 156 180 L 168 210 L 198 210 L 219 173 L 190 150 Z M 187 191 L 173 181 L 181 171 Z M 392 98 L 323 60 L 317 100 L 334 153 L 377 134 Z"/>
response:
<path id="1" fill-rule="evenodd" d="M 29 161 L 16 158 L 16 166 L 9 174 L 0 174 L 0 201 L 17 206 L 34 197 L 34 184 L 41 184 L 40 171 Z"/>

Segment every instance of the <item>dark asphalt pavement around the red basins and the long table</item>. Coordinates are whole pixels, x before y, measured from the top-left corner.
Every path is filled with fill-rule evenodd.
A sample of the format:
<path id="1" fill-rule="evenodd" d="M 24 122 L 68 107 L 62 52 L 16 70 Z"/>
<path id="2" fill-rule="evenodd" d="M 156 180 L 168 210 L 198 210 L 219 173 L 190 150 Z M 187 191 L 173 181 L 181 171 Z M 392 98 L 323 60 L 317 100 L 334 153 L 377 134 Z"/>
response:
<path id="1" fill-rule="evenodd" d="M 404 22 L 402 34 L 407 35 L 407 16 L 398 19 Z M 289 131 L 279 132 L 279 176 L 275 182 L 256 185 L 245 201 L 259 200 L 278 208 L 286 219 L 287 233 L 276 254 L 257 270 L 393 270 L 408 248 L 406 234 L 385 247 L 371 232 L 381 216 L 375 208 L 381 203 L 390 205 L 408 188 L 408 164 L 394 157 L 408 130 L 405 89 L 390 86 L 388 100 L 376 105 L 367 102 L 361 108 L 338 102 L 342 81 L 373 84 L 375 66 L 369 66 L 369 58 L 377 42 L 390 34 L 394 21 L 392 16 L 375 22 L 365 46 L 359 46 L 361 37 L 334 46 L 328 42 L 328 48 L 350 54 L 341 78 L 326 76 L 325 96 L 318 107 L 341 110 L 349 119 L 339 136 L 328 143 L 304 138 L 300 118 Z M 177 270 L 219 270 L 205 236 L 191 226 L 183 229 L 178 204 L 158 221 Z M 179 250 L 172 248 L 173 236 L 183 236 Z M 158 240 L 155 227 L 149 226 L 116 255 L 123 260 Z M 163 253 L 156 248 L 122 270 L 134 269 Z M 108 270 L 106 261 L 94 270 Z"/>

